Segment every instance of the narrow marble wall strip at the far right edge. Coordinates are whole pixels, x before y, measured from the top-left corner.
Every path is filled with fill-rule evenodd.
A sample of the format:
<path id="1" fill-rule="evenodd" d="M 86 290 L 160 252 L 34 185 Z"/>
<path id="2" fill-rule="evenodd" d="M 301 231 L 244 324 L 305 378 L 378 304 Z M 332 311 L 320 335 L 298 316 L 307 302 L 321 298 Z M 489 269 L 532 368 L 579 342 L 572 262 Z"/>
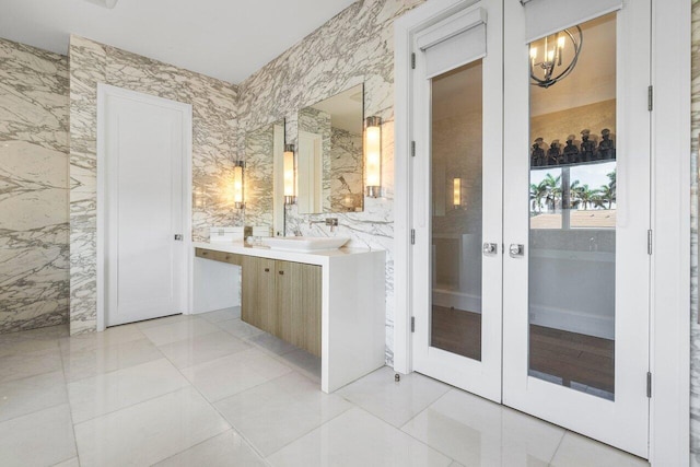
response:
<path id="1" fill-rule="evenodd" d="M 698 138 L 700 137 L 700 0 L 692 0 L 690 157 L 690 464 L 700 466 L 700 325 L 698 325 Z"/>

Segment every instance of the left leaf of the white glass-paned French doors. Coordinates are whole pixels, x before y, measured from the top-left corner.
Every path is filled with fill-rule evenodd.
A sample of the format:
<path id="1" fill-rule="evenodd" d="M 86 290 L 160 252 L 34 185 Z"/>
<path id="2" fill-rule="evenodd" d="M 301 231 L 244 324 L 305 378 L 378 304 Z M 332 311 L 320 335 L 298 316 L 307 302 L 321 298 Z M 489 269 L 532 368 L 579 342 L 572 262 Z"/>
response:
<path id="1" fill-rule="evenodd" d="M 494 401 L 501 400 L 501 1 L 482 0 L 417 33 L 411 74 L 413 369 Z"/>

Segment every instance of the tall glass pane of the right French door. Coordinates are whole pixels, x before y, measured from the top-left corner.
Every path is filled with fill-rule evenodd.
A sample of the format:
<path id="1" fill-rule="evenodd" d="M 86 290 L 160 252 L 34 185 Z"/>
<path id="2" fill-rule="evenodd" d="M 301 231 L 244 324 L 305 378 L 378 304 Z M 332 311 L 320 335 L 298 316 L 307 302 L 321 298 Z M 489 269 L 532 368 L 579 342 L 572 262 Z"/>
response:
<path id="1" fill-rule="evenodd" d="M 615 44 L 616 13 L 610 13 L 529 45 L 535 83 L 529 86 L 528 374 L 609 400 L 615 399 Z M 542 84 L 549 67 L 556 77 L 557 66 L 570 62 L 575 68 L 564 79 Z"/>

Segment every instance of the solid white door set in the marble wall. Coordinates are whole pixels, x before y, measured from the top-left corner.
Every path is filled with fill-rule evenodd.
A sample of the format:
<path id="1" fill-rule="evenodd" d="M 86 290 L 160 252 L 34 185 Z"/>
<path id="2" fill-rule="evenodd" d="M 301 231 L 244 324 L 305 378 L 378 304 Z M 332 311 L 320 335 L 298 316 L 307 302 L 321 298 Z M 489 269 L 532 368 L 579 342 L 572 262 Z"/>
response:
<path id="1" fill-rule="evenodd" d="M 185 312 L 189 105 L 105 86 L 105 324 Z"/>

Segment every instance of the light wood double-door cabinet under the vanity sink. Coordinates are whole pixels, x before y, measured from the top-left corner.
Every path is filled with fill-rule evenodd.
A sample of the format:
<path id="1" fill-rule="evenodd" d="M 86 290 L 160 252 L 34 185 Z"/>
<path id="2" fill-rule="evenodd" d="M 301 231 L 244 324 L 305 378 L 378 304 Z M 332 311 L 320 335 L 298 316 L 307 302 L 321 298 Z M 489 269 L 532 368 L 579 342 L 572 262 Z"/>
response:
<path id="1" fill-rule="evenodd" d="M 241 317 L 320 357 L 320 266 L 243 257 Z"/>

